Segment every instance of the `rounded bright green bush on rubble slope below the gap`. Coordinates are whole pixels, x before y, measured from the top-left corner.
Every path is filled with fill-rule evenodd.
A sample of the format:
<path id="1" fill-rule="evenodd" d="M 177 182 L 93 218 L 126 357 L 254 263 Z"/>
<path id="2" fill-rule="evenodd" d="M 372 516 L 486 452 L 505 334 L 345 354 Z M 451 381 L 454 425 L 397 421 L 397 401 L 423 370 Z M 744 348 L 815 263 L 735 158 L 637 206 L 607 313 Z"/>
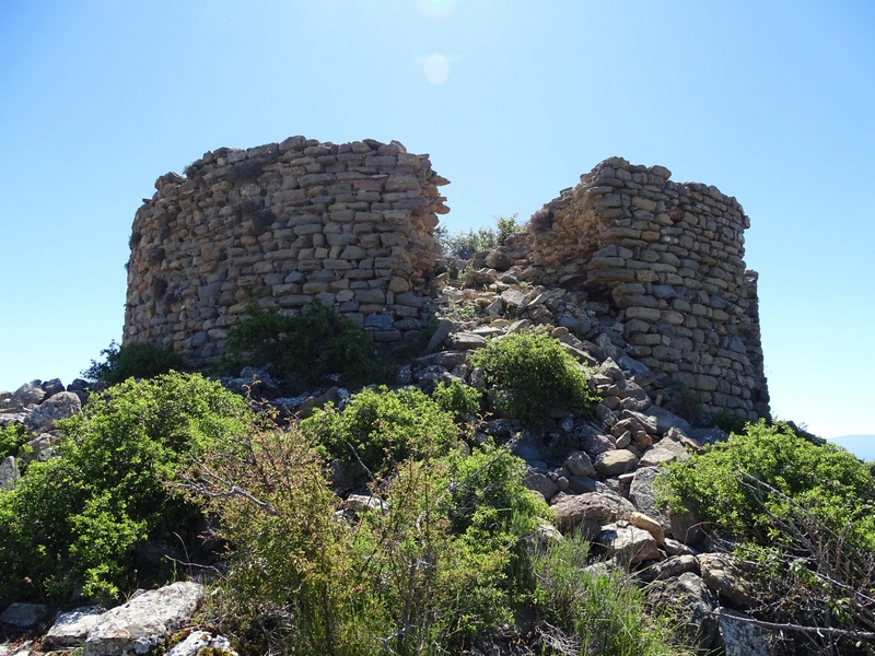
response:
<path id="1" fill-rule="evenodd" d="M 524 421 L 544 418 L 551 408 L 583 411 L 598 400 L 583 366 L 540 330 L 490 340 L 470 361 L 486 372 L 497 408 Z"/>

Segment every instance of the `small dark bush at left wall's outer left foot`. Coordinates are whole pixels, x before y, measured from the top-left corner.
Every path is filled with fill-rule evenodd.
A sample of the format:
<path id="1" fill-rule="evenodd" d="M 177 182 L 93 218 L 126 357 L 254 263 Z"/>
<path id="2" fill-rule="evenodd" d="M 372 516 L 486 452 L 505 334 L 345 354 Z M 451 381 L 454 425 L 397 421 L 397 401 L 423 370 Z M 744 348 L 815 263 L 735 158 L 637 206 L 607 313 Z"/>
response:
<path id="1" fill-rule="evenodd" d="M 183 356 L 172 349 L 140 342 L 119 347 L 115 340 L 101 351 L 105 362 L 91 361 L 82 376 L 92 383 L 116 385 L 128 378 L 154 378 L 171 371 L 186 368 Z"/>

